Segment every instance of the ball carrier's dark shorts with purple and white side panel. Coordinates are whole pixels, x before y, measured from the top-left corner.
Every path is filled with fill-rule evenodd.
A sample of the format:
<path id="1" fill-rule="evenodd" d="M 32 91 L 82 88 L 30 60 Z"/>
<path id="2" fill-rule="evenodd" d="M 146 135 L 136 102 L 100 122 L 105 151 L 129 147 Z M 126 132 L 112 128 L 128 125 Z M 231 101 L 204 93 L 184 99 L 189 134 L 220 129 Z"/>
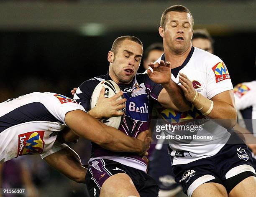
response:
<path id="1" fill-rule="evenodd" d="M 96 159 L 89 162 L 89 165 L 85 179 L 91 197 L 99 197 L 105 180 L 118 173 L 126 173 L 131 177 L 141 197 L 158 197 L 158 185 L 152 177 L 141 170 L 108 159 Z"/>

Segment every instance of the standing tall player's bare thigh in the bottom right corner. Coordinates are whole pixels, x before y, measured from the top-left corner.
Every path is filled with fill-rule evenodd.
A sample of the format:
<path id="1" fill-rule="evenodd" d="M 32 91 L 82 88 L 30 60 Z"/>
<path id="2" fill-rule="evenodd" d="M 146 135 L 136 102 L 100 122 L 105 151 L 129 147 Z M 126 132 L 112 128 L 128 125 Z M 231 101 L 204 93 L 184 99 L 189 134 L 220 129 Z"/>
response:
<path id="1" fill-rule="evenodd" d="M 234 187 L 229 197 L 255 197 L 256 196 L 256 177 L 247 177 Z"/>

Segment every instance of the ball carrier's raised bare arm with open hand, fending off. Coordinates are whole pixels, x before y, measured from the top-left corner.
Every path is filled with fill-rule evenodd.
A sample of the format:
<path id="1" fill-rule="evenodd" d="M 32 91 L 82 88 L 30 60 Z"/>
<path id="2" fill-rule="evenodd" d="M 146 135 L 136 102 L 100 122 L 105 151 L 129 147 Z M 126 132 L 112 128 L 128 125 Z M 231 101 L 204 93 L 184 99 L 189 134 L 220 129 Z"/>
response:
<path id="1" fill-rule="evenodd" d="M 182 92 L 182 89 L 172 81 L 170 62 L 164 63 L 149 63 L 153 72 L 148 69 L 149 78 L 155 83 L 161 84 L 164 88 L 159 93 L 157 101 L 164 107 L 177 111 L 188 111 L 191 109 L 191 104 L 187 101 Z"/>

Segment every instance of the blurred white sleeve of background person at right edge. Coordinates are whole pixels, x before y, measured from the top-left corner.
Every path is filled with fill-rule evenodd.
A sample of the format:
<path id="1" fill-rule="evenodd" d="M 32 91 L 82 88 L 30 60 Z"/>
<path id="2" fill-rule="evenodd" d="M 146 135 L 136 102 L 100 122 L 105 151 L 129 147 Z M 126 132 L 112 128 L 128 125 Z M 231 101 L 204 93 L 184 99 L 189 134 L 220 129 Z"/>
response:
<path id="1" fill-rule="evenodd" d="M 243 110 L 252 106 L 255 99 L 253 90 L 246 83 L 239 83 L 234 87 L 236 109 Z"/>

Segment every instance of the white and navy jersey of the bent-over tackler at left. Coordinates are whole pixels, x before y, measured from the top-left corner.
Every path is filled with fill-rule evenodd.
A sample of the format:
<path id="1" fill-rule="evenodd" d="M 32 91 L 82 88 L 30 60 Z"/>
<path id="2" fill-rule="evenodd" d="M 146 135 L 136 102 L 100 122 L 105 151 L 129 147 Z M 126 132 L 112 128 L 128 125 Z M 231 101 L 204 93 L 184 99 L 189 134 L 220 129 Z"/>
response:
<path id="1" fill-rule="evenodd" d="M 26 154 L 44 158 L 66 144 L 56 141 L 65 114 L 83 110 L 74 100 L 56 93 L 30 93 L 0 103 L 0 163 Z"/>

